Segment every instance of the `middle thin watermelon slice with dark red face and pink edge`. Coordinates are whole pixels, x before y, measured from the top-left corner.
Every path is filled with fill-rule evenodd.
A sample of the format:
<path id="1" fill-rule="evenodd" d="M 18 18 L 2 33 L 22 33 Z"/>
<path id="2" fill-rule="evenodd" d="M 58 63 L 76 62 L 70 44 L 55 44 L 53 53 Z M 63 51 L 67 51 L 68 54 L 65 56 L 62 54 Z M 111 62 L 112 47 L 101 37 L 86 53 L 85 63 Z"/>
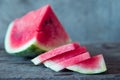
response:
<path id="1" fill-rule="evenodd" d="M 56 72 L 63 70 L 64 68 L 74 65 L 78 62 L 86 60 L 90 58 L 90 54 L 88 52 L 82 53 L 84 51 L 78 49 L 74 51 L 68 52 L 68 54 L 60 55 L 54 57 L 50 60 L 44 62 L 44 65 Z M 82 53 L 82 54 L 81 54 Z"/>

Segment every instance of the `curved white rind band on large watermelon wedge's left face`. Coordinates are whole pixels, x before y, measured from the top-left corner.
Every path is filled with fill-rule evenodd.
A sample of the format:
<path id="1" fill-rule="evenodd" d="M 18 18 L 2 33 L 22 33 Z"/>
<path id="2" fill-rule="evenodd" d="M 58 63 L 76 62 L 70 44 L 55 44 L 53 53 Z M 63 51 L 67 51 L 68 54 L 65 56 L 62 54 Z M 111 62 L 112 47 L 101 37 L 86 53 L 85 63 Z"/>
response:
<path id="1" fill-rule="evenodd" d="M 11 22 L 9 24 L 8 31 L 7 31 L 6 37 L 5 37 L 5 49 L 10 54 L 14 54 L 14 53 L 24 51 L 28 47 L 30 47 L 31 45 L 36 43 L 36 38 L 34 37 L 33 39 L 31 39 L 30 41 L 28 41 L 26 44 L 24 44 L 23 46 L 21 46 L 19 48 L 12 48 L 11 45 L 10 45 L 10 33 L 11 33 L 11 30 L 12 30 L 13 24 L 14 24 L 14 22 Z"/>

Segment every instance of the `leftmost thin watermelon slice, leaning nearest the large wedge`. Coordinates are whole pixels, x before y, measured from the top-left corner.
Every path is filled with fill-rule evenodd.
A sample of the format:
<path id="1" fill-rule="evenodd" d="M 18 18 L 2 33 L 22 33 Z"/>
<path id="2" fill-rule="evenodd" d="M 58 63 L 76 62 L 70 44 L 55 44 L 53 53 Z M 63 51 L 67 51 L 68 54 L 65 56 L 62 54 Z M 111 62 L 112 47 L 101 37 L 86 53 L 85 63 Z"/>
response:
<path id="1" fill-rule="evenodd" d="M 38 65 L 52 57 L 55 57 L 55 56 L 58 56 L 60 54 L 63 54 L 65 52 L 68 52 L 68 51 L 72 51 L 72 50 L 75 50 L 77 48 L 79 48 L 80 45 L 76 42 L 74 43 L 70 43 L 70 44 L 67 44 L 67 45 L 63 45 L 63 46 L 60 46 L 58 48 L 55 48 L 53 50 L 50 50 L 44 54 L 40 54 L 39 56 L 37 56 L 36 58 L 32 59 L 31 61 L 35 64 L 35 65 Z"/>

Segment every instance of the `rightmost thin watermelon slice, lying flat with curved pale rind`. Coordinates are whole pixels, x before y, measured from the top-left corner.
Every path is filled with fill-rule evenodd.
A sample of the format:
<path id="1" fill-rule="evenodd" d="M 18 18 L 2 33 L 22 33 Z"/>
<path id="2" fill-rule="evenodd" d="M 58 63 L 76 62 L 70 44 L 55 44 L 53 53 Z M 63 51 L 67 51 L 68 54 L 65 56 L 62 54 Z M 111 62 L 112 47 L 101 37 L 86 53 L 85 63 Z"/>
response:
<path id="1" fill-rule="evenodd" d="M 103 55 L 101 54 L 69 66 L 67 69 L 83 74 L 96 74 L 107 70 Z"/>

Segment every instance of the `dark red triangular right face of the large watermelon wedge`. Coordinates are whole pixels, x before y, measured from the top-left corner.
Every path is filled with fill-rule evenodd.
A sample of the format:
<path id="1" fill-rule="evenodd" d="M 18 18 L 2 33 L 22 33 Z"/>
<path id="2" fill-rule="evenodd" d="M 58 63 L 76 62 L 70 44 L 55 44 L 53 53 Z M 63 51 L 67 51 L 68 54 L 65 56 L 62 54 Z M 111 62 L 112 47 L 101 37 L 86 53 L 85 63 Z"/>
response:
<path id="1" fill-rule="evenodd" d="M 64 44 L 65 42 L 61 39 L 67 41 L 69 39 L 69 36 L 64 31 L 62 24 L 59 22 L 50 7 L 48 7 L 47 13 L 49 14 L 44 17 L 42 24 L 39 25 L 40 28 L 37 34 L 38 42 L 46 46 L 55 46 L 58 44 L 58 42 Z M 49 43 L 49 41 L 51 41 L 51 43 Z"/>

